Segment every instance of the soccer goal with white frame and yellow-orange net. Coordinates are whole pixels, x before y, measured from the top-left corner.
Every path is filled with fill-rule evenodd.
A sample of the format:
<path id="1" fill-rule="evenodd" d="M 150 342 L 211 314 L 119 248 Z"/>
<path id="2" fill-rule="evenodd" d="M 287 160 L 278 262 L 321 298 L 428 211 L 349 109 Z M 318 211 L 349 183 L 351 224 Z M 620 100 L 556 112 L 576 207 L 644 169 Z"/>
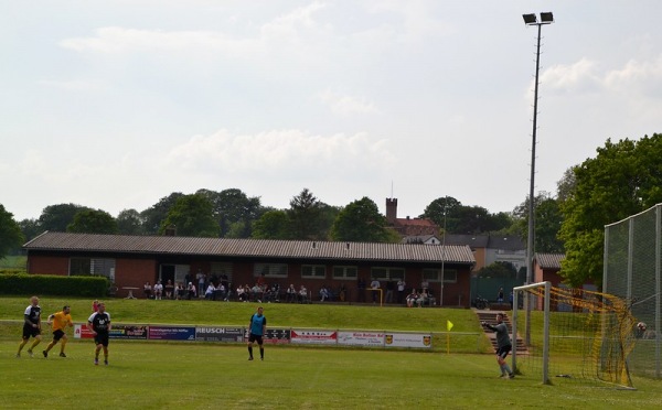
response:
<path id="1" fill-rule="evenodd" d="M 632 388 L 628 356 L 634 347 L 637 321 L 624 300 L 549 282 L 513 292 L 513 338 L 519 327 L 530 326 L 524 328 L 525 349 L 513 349 L 514 371 L 540 371 L 543 384 L 552 384 L 554 377 L 558 382 Z M 516 309 L 521 296 L 524 309 Z"/>

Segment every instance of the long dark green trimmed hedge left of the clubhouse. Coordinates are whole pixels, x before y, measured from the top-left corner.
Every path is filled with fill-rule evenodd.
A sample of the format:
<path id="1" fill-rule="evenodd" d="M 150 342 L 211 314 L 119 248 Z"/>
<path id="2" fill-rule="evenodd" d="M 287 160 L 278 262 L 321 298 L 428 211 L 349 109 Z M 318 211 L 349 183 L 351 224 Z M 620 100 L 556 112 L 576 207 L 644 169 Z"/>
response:
<path id="1" fill-rule="evenodd" d="M 0 294 L 105 298 L 109 285 L 104 277 L 0 273 Z"/>

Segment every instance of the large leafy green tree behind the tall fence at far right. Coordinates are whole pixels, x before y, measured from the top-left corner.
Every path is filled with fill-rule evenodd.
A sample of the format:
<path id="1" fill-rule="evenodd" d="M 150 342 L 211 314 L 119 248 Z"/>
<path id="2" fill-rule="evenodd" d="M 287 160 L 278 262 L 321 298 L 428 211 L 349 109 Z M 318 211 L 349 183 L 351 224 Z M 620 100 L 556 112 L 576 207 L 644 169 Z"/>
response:
<path id="1" fill-rule="evenodd" d="M 573 285 L 601 283 L 605 225 L 662 202 L 662 134 L 607 140 L 597 153 L 574 168 L 575 186 L 560 204 L 560 272 Z"/>

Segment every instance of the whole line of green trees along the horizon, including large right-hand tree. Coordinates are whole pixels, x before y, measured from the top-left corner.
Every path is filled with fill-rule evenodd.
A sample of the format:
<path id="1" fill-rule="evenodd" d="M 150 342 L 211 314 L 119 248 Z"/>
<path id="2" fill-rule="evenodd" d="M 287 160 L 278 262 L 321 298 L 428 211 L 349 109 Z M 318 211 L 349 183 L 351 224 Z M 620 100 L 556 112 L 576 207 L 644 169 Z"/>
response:
<path id="1" fill-rule="evenodd" d="M 662 134 L 639 140 L 607 140 L 597 155 L 566 170 L 556 193 L 541 192 L 535 205 L 535 251 L 565 253 L 562 276 L 570 285 L 600 283 L 604 227 L 662 202 Z M 510 213 L 490 213 L 451 196 L 433 201 L 419 215 L 448 234 L 519 235 L 526 241 L 528 198 Z M 0 258 L 18 251 L 44 230 L 396 242 L 374 201 L 367 197 L 331 206 L 303 188 L 289 208 L 264 206 L 238 188 L 171 193 L 147 209 L 113 217 L 76 204 L 46 206 L 34 219 L 15 222 L 0 204 Z"/>

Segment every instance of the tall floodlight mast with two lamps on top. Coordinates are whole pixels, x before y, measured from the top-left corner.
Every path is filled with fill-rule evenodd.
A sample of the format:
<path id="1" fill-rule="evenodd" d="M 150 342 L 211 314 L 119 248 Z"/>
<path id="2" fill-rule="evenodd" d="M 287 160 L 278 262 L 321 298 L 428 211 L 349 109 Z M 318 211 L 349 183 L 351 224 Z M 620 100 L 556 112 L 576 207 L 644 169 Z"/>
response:
<path id="1" fill-rule="evenodd" d="M 554 22 L 554 14 L 551 11 L 541 13 L 541 21 L 537 21 L 535 14 L 522 14 L 524 24 L 537 25 L 537 45 L 535 52 L 535 85 L 533 91 L 533 132 L 531 133 L 531 180 L 528 187 L 528 234 L 526 242 L 526 284 L 533 283 L 533 255 L 535 247 L 535 145 L 536 145 L 536 131 L 537 131 L 537 94 L 538 94 L 538 74 L 540 74 L 540 62 L 541 62 L 541 29 L 545 24 L 552 24 Z M 531 342 L 531 302 L 526 303 L 526 337 L 525 344 L 530 345 Z"/>

